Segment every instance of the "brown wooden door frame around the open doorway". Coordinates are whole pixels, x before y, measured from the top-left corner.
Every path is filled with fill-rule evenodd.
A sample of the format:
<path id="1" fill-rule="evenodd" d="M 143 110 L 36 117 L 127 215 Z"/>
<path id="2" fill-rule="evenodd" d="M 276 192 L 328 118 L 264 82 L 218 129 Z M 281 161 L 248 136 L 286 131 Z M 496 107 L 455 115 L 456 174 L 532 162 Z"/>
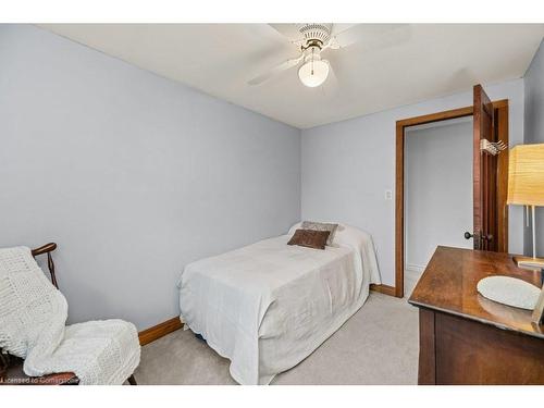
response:
<path id="1" fill-rule="evenodd" d="M 493 101 L 496 111 L 495 124 L 498 138 L 508 145 L 508 99 Z M 376 285 L 375 290 L 396 297 L 404 296 L 405 275 L 405 128 L 425 123 L 441 122 L 449 119 L 472 116 L 473 107 L 458 108 L 448 111 L 403 119 L 396 122 L 395 152 L 395 286 Z M 505 150 L 506 152 L 508 150 Z M 508 154 L 498 156 L 498 203 L 503 217 L 499 218 L 499 250 L 508 251 L 508 211 L 506 193 L 508 186 Z"/>

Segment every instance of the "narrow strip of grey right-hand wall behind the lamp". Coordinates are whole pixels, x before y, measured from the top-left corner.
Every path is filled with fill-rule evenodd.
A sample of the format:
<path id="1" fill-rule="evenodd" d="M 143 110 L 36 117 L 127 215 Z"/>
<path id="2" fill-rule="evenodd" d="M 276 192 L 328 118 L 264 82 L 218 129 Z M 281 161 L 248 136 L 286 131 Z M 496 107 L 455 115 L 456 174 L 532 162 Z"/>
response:
<path id="1" fill-rule="evenodd" d="M 544 143 L 544 42 L 526 73 L 526 143 Z M 536 211 L 536 255 L 544 257 L 544 208 Z M 532 255 L 531 227 L 526 228 L 526 255 Z"/>

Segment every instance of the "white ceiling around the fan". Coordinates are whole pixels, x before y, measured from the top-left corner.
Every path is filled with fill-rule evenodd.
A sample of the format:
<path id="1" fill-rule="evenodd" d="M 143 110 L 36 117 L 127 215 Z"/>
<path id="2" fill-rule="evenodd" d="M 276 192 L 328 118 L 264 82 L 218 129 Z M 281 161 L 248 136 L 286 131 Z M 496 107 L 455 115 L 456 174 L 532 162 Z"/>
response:
<path id="1" fill-rule="evenodd" d="M 299 128 L 521 77 L 544 35 L 543 24 L 367 25 L 363 41 L 323 51 L 335 77 L 307 88 L 297 69 L 247 85 L 298 54 L 267 24 L 40 26 Z"/>

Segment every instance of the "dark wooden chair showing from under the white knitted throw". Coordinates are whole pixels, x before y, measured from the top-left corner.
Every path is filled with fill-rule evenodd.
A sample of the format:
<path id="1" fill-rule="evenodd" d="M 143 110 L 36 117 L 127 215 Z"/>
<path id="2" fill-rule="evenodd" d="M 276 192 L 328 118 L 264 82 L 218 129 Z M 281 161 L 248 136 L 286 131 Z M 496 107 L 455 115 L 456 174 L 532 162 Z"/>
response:
<path id="1" fill-rule="evenodd" d="M 33 249 L 32 255 L 36 258 L 47 254 L 47 268 L 51 274 L 51 283 L 59 288 L 54 274 L 54 262 L 51 252 L 57 249 L 57 244 L 49 243 Z M 77 385 L 79 379 L 73 372 L 60 372 L 42 376 L 28 376 L 23 371 L 23 359 L 10 356 L 0 348 L 0 385 Z M 127 379 L 131 385 L 137 385 L 134 374 Z"/>

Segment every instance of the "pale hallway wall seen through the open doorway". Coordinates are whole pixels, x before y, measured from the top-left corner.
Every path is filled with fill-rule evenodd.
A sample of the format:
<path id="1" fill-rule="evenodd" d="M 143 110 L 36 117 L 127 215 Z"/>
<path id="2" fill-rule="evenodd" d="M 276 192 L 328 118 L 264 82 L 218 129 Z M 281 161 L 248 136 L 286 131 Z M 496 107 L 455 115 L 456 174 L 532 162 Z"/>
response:
<path id="1" fill-rule="evenodd" d="M 472 116 L 405 135 L 405 264 L 422 271 L 437 245 L 472 248 Z"/>

